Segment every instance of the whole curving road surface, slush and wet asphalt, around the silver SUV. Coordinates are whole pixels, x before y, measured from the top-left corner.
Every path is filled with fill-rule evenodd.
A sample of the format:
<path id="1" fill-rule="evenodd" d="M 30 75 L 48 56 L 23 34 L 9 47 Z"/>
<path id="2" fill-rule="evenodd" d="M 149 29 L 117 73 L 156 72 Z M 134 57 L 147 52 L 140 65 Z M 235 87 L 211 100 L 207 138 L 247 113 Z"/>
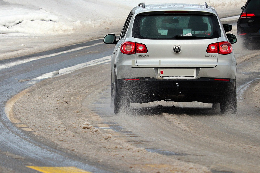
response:
<path id="1" fill-rule="evenodd" d="M 26 166 L 75 166 L 92 172 L 151 172 L 175 168 L 177 163 L 184 168 L 187 163 L 199 164 L 212 172 L 259 170 L 260 119 L 253 98 L 258 97 L 259 49 L 245 51 L 239 43 L 234 45 L 240 61 L 236 116 L 221 116 L 208 104 L 165 102 L 134 104 L 129 115 L 115 116 L 109 108 L 108 64 L 36 84 L 20 94 L 13 123 L 5 116 L 6 101 L 36 83 L 32 79 L 84 63 L 86 57 L 88 61 L 106 57 L 112 50 L 113 46 L 98 44 L 0 70 L 1 170 L 35 172 Z M 206 172 L 200 166 L 198 170 Z"/>

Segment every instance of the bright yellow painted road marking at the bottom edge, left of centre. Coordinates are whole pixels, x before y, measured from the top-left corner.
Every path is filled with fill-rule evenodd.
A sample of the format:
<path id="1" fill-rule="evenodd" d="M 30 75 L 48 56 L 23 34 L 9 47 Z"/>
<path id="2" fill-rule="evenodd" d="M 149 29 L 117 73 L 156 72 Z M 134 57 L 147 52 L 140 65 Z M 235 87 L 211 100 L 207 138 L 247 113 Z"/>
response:
<path id="1" fill-rule="evenodd" d="M 39 167 L 27 166 L 27 168 L 34 169 L 42 173 L 91 173 L 76 167 Z"/>

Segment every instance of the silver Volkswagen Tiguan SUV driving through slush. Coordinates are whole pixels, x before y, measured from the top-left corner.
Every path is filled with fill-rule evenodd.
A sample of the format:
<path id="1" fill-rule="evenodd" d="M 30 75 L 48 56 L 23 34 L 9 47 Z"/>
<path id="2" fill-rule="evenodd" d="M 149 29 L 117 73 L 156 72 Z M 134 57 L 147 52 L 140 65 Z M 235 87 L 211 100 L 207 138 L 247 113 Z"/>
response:
<path id="1" fill-rule="evenodd" d="M 127 17 L 111 56 L 111 105 L 175 101 L 220 103 L 221 113 L 237 111 L 237 63 L 214 8 L 191 4 L 140 3 Z"/>

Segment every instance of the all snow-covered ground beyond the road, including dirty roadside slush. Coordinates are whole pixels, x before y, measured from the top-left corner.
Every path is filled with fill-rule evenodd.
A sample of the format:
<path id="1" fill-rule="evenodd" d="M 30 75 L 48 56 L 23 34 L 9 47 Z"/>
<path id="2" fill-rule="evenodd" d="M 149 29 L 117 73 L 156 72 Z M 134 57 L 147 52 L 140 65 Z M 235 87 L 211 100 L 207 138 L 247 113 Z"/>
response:
<path id="1" fill-rule="evenodd" d="M 119 32 L 140 0 L 0 0 L 0 60 Z M 146 4 L 180 3 L 146 0 Z M 246 0 L 209 0 L 219 14 L 234 15 Z M 181 3 L 204 4 L 205 0 Z M 229 10 L 227 10 L 229 9 Z M 232 9 L 232 12 L 230 11 Z M 227 14 L 230 11 L 230 14 Z M 220 13 L 221 12 L 221 13 Z"/>

